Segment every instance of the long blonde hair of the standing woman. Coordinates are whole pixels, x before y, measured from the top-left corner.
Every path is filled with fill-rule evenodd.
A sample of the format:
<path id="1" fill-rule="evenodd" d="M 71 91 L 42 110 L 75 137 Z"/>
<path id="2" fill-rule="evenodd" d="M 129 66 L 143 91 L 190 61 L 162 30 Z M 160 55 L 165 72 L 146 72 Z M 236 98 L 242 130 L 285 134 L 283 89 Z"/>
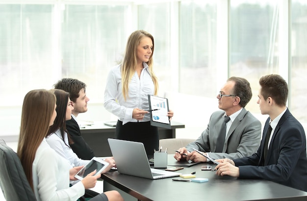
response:
<path id="1" fill-rule="evenodd" d="M 123 96 L 125 100 L 127 99 L 127 95 L 128 95 L 129 82 L 132 79 L 134 72 L 136 71 L 137 46 L 139 45 L 141 39 L 144 36 L 149 37 L 150 39 L 152 39 L 152 42 L 153 42 L 152 54 L 149 58 L 149 61 L 146 63 L 148 65 L 149 74 L 153 79 L 153 85 L 154 85 L 153 95 L 157 95 L 158 93 L 158 79 L 153 73 L 153 50 L 154 50 L 153 36 L 144 30 L 137 30 L 131 33 L 131 35 L 128 38 L 125 56 L 124 56 L 124 59 L 121 65 L 122 92 L 123 92 Z"/>

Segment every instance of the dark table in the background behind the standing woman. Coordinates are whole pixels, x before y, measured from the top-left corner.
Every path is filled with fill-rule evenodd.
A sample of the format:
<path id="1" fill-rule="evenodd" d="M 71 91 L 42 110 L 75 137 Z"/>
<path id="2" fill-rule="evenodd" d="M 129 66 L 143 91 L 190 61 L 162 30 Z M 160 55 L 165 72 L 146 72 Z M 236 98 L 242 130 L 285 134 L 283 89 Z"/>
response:
<path id="1" fill-rule="evenodd" d="M 184 128 L 184 124 L 171 121 L 171 129 L 158 128 L 159 139 L 176 138 L 176 129 Z M 95 156 L 111 156 L 108 138 L 115 138 L 115 127 L 104 125 L 104 121 L 82 122 L 81 135 L 94 150 Z"/>

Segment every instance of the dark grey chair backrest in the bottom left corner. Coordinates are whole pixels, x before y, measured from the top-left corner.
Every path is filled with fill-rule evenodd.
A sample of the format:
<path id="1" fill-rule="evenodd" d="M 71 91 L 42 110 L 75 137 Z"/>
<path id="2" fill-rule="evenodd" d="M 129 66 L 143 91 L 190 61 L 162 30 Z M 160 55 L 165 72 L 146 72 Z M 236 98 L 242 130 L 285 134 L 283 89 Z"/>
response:
<path id="1" fill-rule="evenodd" d="M 36 201 L 17 154 L 0 139 L 0 187 L 6 201 Z"/>

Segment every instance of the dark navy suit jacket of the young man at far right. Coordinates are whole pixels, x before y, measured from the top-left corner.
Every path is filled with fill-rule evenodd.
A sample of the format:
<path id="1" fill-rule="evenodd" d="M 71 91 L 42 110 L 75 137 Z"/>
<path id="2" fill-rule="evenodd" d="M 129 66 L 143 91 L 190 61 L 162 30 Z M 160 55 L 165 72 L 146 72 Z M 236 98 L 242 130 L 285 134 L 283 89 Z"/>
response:
<path id="1" fill-rule="evenodd" d="M 239 178 L 261 178 L 307 191 L 306 136 L 300 122 L 287 109 L 272 136 L 267 157 L 263 158 L 264 140 L 270 118 L 263 128 L 257 152 L 233 160 L 239 167 Z"/>

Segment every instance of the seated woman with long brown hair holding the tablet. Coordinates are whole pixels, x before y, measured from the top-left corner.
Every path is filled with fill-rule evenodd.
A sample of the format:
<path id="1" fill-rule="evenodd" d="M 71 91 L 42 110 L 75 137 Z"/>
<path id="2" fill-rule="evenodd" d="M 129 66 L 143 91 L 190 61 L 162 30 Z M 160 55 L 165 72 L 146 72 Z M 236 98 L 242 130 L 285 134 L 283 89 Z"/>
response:
<path id="1" fill-rule="evenodd" d="M 70 180 L 82 168 L 71 168 L 67 160 L 55 153 L 45 136 L 56 117 L 55 96 L 51 91 L 29 91 L 24 99 L 17 154 L 37 201 L 77 201 L 85 189 L 93 188 L 100 174 L 88 174 L 70 187 Z M 109 165 L 111 168 L 112 165 Z M 91 201 L 123 201 L 117 191 L 99 194 Z"/>

